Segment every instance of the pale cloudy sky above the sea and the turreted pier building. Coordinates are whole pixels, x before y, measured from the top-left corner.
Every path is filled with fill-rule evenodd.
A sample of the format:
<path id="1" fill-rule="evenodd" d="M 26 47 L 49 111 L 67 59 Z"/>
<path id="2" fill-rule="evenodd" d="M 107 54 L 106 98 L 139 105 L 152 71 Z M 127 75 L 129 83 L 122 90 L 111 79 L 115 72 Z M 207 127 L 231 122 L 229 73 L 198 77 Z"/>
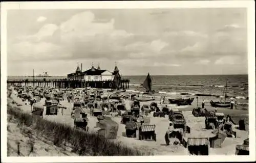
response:
<path id="1" fill-rule="evenodd" d="M 9 10 L 7 73 L 247 74 L 244 8 Z"/>

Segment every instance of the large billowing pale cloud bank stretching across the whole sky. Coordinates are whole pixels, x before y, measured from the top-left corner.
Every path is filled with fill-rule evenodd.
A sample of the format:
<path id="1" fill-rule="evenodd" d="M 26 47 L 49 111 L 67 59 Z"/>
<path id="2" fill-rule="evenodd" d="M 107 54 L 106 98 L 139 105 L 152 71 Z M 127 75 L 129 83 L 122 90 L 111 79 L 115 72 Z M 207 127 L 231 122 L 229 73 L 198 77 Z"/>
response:
<path id="1" fill-rule="evenodd" d="M 194 60 L 197 60 L 197 64 L 208 64 L 208 60 L 214 60 L 212 58 L 246 54 L 246 42 L 241 37 L 244 33 L 240 32 L 206 33 L 186 29 L 165 31 L 159 35 L 138 35 L 129 30 L 117 29 L 116 20 L 112 17 L 101 20 L 92 12 L 81 12 L 59 25 L 54 22 L 44 24 L 37 33 L 20 37 L 18 42 L 26 44 L 27 49 L 30 50 L 18 44 L 12 44 L 8 49 L 11 49 L 12 53 L 17 52 L 24 60 L 30 61 L 44 59 L 39 56 L 44 53 L 45 58 L 51 60 L 130 59 L 133 61 L 131 64 L 134 64 L 133 59 L 143 59 L 143 62 L 145 59 L 150 59 L 151 62 L 147 64 L 160 66 L 162 63 L 161 66 L 164 67 L 195 63 Z M 241 29 L 237 24 L 224 25 L 222 28 Z M 46 50 L 40 52 L 39 49 L 44 48 L 47 48 L 47 52 Z M 33 57 L 29 57 L 28 54 Z M 10 60 L 17 59 L 11 55 Z"/>

